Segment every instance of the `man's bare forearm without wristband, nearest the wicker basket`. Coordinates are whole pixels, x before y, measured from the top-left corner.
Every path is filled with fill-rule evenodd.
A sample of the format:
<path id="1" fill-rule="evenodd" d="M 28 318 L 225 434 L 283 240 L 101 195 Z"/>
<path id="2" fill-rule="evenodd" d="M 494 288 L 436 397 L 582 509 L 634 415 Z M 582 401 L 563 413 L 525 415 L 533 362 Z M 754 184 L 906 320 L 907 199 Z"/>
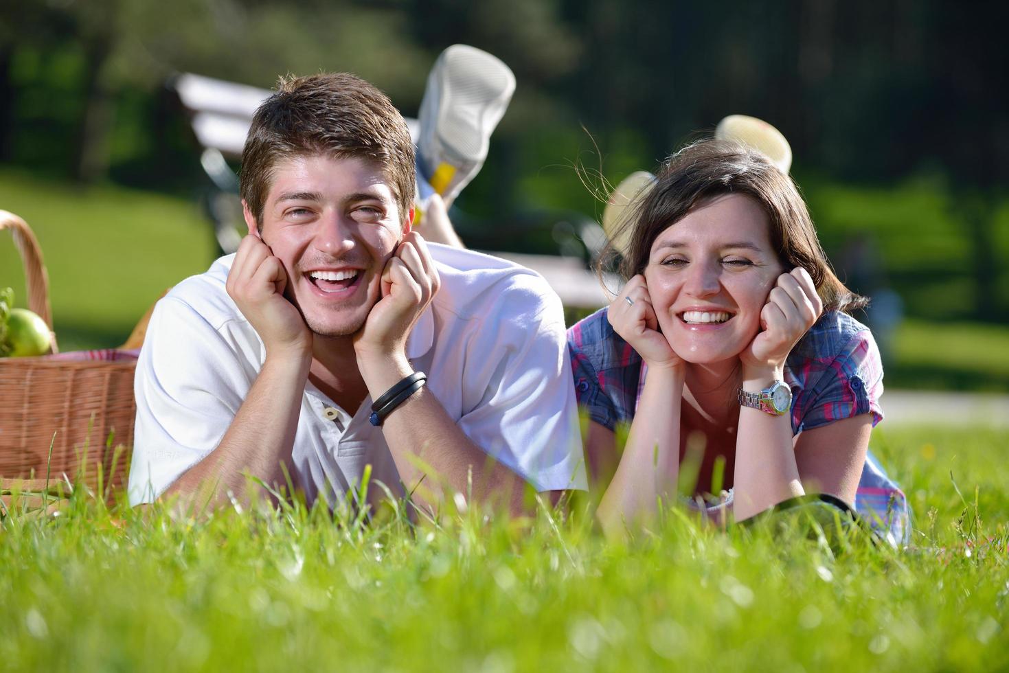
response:
<path id="1" fill-rule="evenodd" d="M 227 502 L 229 492 L 248 501 L 246 473 L 283 484 L 281 463 L 290 462 L 310 363 L 304 356 L 267 357 L 220 444 L 161 498 L 213 509 Z"/>

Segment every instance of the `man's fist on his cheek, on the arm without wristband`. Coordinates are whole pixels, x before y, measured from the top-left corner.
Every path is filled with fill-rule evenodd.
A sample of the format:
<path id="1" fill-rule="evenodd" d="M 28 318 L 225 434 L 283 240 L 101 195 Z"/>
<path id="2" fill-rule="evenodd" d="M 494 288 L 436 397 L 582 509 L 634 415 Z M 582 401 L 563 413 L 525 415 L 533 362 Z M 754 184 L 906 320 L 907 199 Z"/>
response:
<path id="1" fill-rule="evenodd" d="M 307 356 L 312 332 L 295 305 L 284 296 L 288 274 L 281 260 L 258 236 L 242 239 L 225 288 L 255 328 L 266 354 Z"/>

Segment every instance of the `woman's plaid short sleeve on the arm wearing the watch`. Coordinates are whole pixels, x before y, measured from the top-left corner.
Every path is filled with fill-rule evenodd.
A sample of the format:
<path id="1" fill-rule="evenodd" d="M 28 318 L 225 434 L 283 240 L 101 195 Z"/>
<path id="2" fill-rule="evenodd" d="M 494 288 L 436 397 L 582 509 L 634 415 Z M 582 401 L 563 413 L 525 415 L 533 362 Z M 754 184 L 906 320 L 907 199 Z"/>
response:
<path id="1" fill-rule="evenodd" d="M 833 350 L 803 365 L 807 380 L 793 409 L 797 432 L 862 414 L 873 415 L 873 426 L 883 420 L 883 365 L 872 333 L 857 331 Z"/>

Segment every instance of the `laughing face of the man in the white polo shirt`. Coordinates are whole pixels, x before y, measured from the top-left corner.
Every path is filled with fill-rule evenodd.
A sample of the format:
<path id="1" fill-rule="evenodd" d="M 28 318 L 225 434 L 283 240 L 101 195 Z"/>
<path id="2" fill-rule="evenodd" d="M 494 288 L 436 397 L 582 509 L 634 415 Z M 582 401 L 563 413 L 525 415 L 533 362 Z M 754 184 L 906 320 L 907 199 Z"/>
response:
<path id="1" fill-rule="evenodd" d="M 349 336 L 380 299 L 382 269 L 412 219 L 377 164 L 307 154 L 273 167 L 260 238 L 284 264 L 284 294 L 309 329 Z M 254 233 L 247 209 L 245 220 Z"/>

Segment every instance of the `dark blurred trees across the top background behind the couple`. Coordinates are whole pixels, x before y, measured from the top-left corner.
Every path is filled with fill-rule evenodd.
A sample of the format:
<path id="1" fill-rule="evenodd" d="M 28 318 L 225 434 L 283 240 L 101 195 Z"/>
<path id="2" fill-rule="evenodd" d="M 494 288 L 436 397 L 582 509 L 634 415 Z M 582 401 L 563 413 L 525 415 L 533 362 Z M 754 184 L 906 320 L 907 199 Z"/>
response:
<path id="1" fill-rule="evenodd" d="M 620 180 L 751 114 L 789 138 L 799 172 L 940 176 L 972 241 L 975 312 L 992 319 L 1009 315 L 994 235 L 1009 183 L 1007 13 L 993 0 L 0 0 L 0 160 L 172 187 L 173 171 L 195 173 L 160 99 L 173 72 L 269 87 L 348 70 L 411 114 L 437 53 L 463 42 L 518 78 L 460 202 L 474 212 L 592 212 L 570 164 L 595 167 L 593 143 Z"/>

